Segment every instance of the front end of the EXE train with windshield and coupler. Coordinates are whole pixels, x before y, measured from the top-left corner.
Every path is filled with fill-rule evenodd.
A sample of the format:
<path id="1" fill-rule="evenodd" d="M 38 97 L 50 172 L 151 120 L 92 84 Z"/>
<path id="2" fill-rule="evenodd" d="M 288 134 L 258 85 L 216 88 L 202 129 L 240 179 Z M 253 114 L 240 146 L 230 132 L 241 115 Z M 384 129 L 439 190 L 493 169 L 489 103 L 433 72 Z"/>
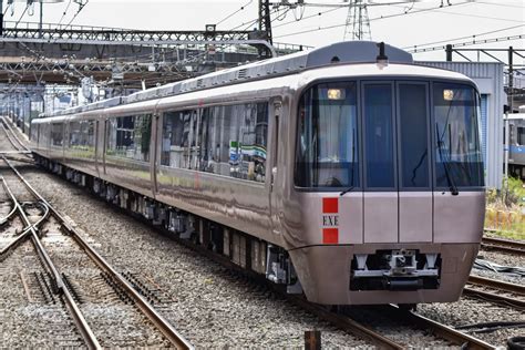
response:
<path id="1" fill-rule="evenodd" d="M 300 94 L 284 223 L 311 301 L 454 301 L 466 282 L 485 206 L 478 93 L 406 66 Z"/>

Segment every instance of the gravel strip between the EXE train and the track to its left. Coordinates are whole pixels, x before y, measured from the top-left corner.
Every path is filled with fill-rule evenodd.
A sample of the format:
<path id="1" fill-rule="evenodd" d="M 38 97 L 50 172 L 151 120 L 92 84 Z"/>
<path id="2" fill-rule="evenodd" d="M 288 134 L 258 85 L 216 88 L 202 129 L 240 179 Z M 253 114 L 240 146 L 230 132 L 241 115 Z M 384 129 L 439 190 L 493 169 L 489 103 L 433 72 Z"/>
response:
<path id="1" fill-rule="evenodd" d="M 161 286 L 172 302 L 158 309 L 197 348 L 300 348 L 307 330 L 320 330 L 326 348 L 370 347 L 268 291 L 253 290 L 224 267 L 56 176 L 28 168 L 22 174 L 112 266 Z"/>

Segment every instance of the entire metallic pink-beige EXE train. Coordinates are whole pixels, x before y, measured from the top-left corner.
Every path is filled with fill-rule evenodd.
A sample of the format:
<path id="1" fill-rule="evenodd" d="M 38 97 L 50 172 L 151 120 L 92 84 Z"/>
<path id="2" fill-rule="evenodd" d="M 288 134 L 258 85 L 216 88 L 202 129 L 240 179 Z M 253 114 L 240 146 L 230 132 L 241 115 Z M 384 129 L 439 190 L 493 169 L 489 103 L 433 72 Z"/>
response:
<path id="1" fill-rule="evenodd" d="M 31 136 L 50 169 L 318 303 L 457 300 L 483 231 L 475 84 L 382 43 L 58 112 Z"/>

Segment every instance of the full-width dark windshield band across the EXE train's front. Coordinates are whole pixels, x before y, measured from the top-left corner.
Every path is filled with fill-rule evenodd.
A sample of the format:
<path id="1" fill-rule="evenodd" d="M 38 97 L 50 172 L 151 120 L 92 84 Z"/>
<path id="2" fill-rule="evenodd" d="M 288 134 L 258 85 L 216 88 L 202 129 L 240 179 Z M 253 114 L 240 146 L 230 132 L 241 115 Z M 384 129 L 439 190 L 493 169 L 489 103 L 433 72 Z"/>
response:
<path id="1" fill-rule="evenodd" d="M 482 187 L 478 105 L 475 89 L 459 83 L 313 85 L 299 102 L 295 184 L 453 194 Z"/>

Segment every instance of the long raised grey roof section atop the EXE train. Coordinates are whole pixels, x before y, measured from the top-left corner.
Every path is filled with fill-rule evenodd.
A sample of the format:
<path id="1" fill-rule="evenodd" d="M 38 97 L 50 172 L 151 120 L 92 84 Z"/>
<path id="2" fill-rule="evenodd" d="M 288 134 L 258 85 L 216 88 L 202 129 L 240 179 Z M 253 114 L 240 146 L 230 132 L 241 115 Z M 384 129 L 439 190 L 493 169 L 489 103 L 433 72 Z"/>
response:
<path id="1" fill-rule="evenodd" d="M 412 55 L 401 49 L 384 44 L 384 53 L 390 63 L 412 64 Z M 312 68 L 337 63 L 372 63 L 379 54 L 379 44 L 373 41 L 344 41 L 327 47 L 301 51 L 279 58 L 257 61 L 236 68 L 213 72 L 163 86 L 147 89 L 125 97 L 113 97 L 84 106 L 75 106 L 42 117 L 63 116 L 83 112 L 109 109 L 121 104 L 161 99 L 198 90 L 241 83 L 250 80 L 267 79 L 298 73 Z"/>

